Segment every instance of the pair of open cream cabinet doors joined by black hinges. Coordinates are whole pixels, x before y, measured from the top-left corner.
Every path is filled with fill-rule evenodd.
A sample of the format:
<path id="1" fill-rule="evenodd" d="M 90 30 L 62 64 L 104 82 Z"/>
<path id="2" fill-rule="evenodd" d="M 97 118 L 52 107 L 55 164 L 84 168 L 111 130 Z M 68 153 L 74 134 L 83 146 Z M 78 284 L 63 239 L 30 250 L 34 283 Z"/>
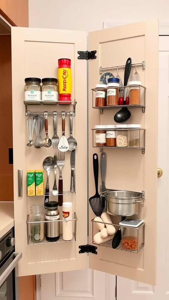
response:
<path id="1" fill-rule="evenodd" d="M 141 109 L 131 109 L 130 119 L 130 124 L 140 123 L 142 128 L 146 129 L 146 152 L 142 154 L 139 149 L 106 149 L 106 186 L 120 190 L 145 191 L 146 201 L 137 216 L 146 222 L 145 246 L 136 254 L 98 245 L 97 254 L 89 253 L 89 264 L 93 269 L 155 284 L 158 21 L 151 20 L 89 33 L 89 50 L 97 50 L 97 58 L 89 61 L 88 103 L 87 63 L 85 60 L 78 59 L 78 51 L 86 50 L 85 32 L 13 27 L 11 37 L 15 238 L 16 250 L 23 253 L 23 258 L 19 262 L 19 275 L 70 271 L 87 267 L 87 253 L 79 253 L 79 246 L 87 244 L 87 226 L 89 227 L 89 242 L 93 243 L 91 219 L 94 214 L 89 208 L 89 223 L 87 224 L 87 191 L 89 191 L 89 197 L 94 195 L 92 156 L 94 152 L 100 155 L 99 148 L 92 147 L 91 129 L 96 124 L 111 124 L 114 113 L 117 111 L 107 110 L 100 115 L 99 110 L 94 110 L 91 88 L 99 83 L 101 66 L 113 69 L 113 66 L 124 65 L 126 59 L 131 57 L 133 63 L 146 61 L 145 70 L 138 70 L 142 84 L 147 88 L 146 113 L 143 113 Z M 18 49 L 20 49 L 19 52 Z M 64 195 L 64 201 L 71 201 L 73 210 L 77 214 L 76 241 L 28 245 L 26 217 L 30 213 L 30 205 L 35 202 L 43 203 L 44 197 L 26 196 L 26 171 L 35 168 L 41 169 L 43 159 L 53 155 L 53 150 L 26 146 L 28 136 L 27 117 L 23 104 L 24 78 L 57 77 L 57 60 L 61 57 L 68 57 L 72 61 L 72 99 L 77 101 L 74 119 L 74 135 L 78 141 L 75 165 L 76 194 Z M 36 111 L 34 107 L 30 107 L 30 110 Z M 45 106 L 45 111 L 50 109 L 50 106 Z M 59 112 L 69 110 L 63 105 L 57 106 L 55 109 Z M 40 110 L 44 111 L 43 106 Z M 48 125 L 49 135 L 52 136 L 53 125 L 50 116 Z M 61 132 L 61 119 L 58 119 L 59 136 L 61 136 Z M 66 119 L 66 134 L 69 134 L 68 119 Z M 89 155 L 89 163 L 87 155 Z M 65 190 L 69 190 L 70 153 L 65 153 L 65 160 L 63 180 Z M 23 170 L 23 197 L 18 196 L 18 169 Z M 52 175 L 50 179 L 52 187 Z M 53 200 L 54 197 L 51 199 Z"/>

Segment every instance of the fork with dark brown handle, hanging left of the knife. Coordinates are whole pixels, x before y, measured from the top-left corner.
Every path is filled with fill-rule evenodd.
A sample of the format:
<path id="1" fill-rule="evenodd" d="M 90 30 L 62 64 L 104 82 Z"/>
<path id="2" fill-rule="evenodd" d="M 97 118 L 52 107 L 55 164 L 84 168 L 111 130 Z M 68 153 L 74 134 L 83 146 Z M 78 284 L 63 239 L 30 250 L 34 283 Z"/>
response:
<path id="1" fill-rule="evenodd" d="M 57 153 L 57 167 L 59 168 L 59 184 L 58 184 L 58 205 L 63 204 L 63 178 L 62 178 L 62 168 L 65 164 L 65 154 L 64 152 Z"/>

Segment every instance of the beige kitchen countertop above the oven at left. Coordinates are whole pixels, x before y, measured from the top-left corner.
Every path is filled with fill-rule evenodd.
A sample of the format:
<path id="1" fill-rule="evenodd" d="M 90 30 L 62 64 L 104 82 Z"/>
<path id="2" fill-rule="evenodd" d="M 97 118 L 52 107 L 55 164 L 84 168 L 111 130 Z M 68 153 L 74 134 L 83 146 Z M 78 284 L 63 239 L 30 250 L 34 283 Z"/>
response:
<path id="1" fill-rule="evenodd" d="M 14 226 L 14 202 L 0 202 L 0 238 Z"/>

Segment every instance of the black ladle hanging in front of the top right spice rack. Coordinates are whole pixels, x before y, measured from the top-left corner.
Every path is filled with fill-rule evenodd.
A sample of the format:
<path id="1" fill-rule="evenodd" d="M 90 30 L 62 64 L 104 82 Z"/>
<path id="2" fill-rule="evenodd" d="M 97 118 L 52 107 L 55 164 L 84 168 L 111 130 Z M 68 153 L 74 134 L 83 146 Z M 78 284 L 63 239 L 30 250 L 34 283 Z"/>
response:
<path id="1" fill-rule="evenodd" d="M 131 58 L 129 57 L 126 61 L 125 70 L 124 70 L 124 86 L 128 83 L 128 78 L 131 71 Z M 126 105 L 126 94 L 127 94 L 127 88 L 124 88 L 124 101 L 123 105 Z M 114 120 L 116 123 L 124 123 L 131 117 L 131 112 L 128 110 L 127 107 L 122 107 L 121 110 L 119 110 L 115 116 Z"/>

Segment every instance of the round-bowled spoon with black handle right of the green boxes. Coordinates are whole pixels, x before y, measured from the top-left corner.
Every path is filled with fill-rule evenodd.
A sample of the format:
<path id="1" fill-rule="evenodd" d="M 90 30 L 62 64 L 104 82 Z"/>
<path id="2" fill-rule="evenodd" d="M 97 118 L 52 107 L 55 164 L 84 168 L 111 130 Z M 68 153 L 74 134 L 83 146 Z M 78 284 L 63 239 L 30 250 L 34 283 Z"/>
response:
<path id="1" fill-rule="evenodd" d="M 49 201 L 49 174 L 50 174 L 51 170 L 54 169 L 54 166 L 55 166 L 55 161 L 54 161 L 53 157 L 48 156 L 44 159 L 43 168 L 47 172 L 47 182 L 46 182 L 46 189 L 45 189 L 45 203 L 44 203 L 45 208 L 46 208 L 46 205 L 45 205 L 46 202 Z"/>

